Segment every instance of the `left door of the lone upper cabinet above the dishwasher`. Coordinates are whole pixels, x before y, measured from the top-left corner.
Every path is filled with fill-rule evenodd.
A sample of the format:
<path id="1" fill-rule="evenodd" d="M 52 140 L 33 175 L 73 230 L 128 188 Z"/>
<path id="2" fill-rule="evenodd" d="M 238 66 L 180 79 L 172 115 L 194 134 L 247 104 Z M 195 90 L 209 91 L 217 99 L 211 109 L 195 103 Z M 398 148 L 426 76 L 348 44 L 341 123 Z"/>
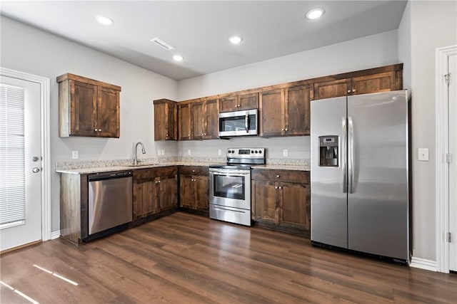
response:
<path id="1" fill-rule="evenodd" d="M 96 136 L 97 86 L 70 82 L 70 135 Z"/>

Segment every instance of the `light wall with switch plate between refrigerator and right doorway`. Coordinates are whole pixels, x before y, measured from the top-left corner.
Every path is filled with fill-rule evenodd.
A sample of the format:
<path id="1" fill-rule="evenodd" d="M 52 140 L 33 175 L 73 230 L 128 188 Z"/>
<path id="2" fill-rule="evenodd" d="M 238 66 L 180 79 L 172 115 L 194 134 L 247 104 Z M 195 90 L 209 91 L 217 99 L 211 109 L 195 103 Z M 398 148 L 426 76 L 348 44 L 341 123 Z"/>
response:
<path id="1" fill-rule="evenodd" d="M 404 75 L 411 85 L 413 256 L 436 261 L 435 50 L 457 44 L 457 2 L 410 1 L 398 41 L 399 55 L 411 63 L 409 75 Z M 429 149 L 428 162 L 418 162 L 419 147 Z"/>

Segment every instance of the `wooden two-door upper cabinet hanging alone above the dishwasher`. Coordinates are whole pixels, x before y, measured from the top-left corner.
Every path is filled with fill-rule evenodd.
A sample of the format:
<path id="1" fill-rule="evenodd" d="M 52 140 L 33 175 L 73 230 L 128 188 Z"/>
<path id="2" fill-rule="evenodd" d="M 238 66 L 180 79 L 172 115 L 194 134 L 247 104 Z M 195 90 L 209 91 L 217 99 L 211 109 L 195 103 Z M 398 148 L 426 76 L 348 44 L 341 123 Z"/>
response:
<path id="1" fill-rule="evenodd" d="M 59 83 L 59 136 L 120 135 L 121 87 L 66 73 Z"/>

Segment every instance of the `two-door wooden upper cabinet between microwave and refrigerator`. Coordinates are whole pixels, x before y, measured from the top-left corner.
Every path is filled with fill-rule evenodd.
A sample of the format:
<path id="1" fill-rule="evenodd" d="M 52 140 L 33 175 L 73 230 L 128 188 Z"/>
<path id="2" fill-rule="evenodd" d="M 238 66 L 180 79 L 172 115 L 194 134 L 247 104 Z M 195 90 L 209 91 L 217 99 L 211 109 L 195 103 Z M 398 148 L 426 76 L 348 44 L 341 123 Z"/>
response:
<path id="1" fill-rule="evenodd" d="M 260 136 L 309 135 L 313 85 L 268 90 L 260 94 Z"/>

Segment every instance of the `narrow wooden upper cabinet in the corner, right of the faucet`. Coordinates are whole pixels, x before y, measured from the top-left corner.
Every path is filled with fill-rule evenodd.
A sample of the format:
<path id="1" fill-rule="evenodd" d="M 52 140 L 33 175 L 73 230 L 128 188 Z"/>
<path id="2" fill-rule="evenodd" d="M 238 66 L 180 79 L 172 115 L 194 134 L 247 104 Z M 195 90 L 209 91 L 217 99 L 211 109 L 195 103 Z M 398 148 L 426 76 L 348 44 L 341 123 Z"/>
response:
<path id="1" fill-rule="evenodd" d="M 175 101 L 154 100 L 154 140 L 178 140 L 178 106 Z"/>

